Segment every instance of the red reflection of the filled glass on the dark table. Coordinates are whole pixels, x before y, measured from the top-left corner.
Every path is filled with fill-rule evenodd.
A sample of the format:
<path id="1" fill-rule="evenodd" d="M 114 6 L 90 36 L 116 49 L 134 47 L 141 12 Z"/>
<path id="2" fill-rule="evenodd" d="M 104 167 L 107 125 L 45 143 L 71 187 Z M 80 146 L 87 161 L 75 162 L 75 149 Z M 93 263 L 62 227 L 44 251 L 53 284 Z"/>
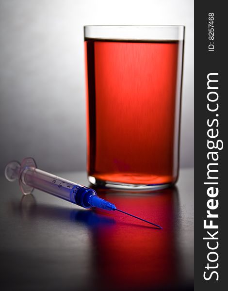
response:
<path id="1" fill-rule="evenodd" d="M 116 207 L 158 223 L 163 230 L 121 213 L 112 213 L 116 224 L 94 229 L 98 248 L 95 267 L 103 289 L 112 282 L 112 290 L 159 290 L 178 288 L 181 284 L 181 258 L 176 235 L 179 226 L 178 189 L 168 188 L 153 193 L 116 192 L 96 189 L 98 196 Z M 105 216 L 102 210 L 95 210 Z"/>

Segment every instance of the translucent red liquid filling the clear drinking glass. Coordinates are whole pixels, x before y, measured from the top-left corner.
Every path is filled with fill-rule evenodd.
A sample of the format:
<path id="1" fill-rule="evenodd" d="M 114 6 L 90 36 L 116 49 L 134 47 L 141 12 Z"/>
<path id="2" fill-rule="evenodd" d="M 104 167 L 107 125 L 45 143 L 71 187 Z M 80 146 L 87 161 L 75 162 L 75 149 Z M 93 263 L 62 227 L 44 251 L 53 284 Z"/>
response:
<path id="1" fill-rule="evenodd" d="M 182 48 L 179 41 L 85 41 L 89 176 L 177 180 Z"/>

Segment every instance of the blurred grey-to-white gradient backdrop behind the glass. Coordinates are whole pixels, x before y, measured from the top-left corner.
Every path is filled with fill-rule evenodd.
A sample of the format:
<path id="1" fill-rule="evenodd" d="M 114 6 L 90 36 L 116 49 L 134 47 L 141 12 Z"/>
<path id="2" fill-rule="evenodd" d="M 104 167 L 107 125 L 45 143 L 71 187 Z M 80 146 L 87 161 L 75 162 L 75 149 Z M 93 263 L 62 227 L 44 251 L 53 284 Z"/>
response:
<path id="1" fill-rule="evenodd" d="M 180 165 L 194 162 L 194 0 L 0 0 L 0 171 L 86 168 L 83 25 L 186 26 Z"/>

